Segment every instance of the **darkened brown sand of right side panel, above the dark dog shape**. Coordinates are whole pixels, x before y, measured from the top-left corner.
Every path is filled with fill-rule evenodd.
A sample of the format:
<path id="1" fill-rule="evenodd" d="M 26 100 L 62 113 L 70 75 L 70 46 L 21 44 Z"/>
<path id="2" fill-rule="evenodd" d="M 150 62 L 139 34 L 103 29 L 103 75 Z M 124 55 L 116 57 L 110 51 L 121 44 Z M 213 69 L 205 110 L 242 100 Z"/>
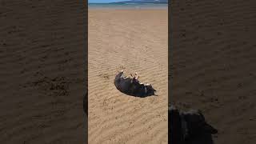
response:
<path id="1" fill-rule="evenodd" d="M 202 110 L 216 144 L 256 142 L 255 3 L 171 3 L 170 101 Z"/>

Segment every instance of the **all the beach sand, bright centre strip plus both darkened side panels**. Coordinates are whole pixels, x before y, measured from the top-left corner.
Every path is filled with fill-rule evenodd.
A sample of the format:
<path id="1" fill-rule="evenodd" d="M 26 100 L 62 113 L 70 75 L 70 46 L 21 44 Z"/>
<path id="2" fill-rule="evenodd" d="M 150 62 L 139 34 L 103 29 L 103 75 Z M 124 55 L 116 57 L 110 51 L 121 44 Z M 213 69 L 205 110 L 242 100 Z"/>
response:
<path id="1" fill-rule="evenodd" d="M 170 101 L 202 110 L 216 144 L 254 144 L 255 1 L 172 2 Z M 1 143 L 86 143 L 84 3 L 1 2 Z M 167 143 L 167 25 L 166 10 L 89 10 L 90 144 Z M 120 69 L 158 96 L 120 93 Z"/>

